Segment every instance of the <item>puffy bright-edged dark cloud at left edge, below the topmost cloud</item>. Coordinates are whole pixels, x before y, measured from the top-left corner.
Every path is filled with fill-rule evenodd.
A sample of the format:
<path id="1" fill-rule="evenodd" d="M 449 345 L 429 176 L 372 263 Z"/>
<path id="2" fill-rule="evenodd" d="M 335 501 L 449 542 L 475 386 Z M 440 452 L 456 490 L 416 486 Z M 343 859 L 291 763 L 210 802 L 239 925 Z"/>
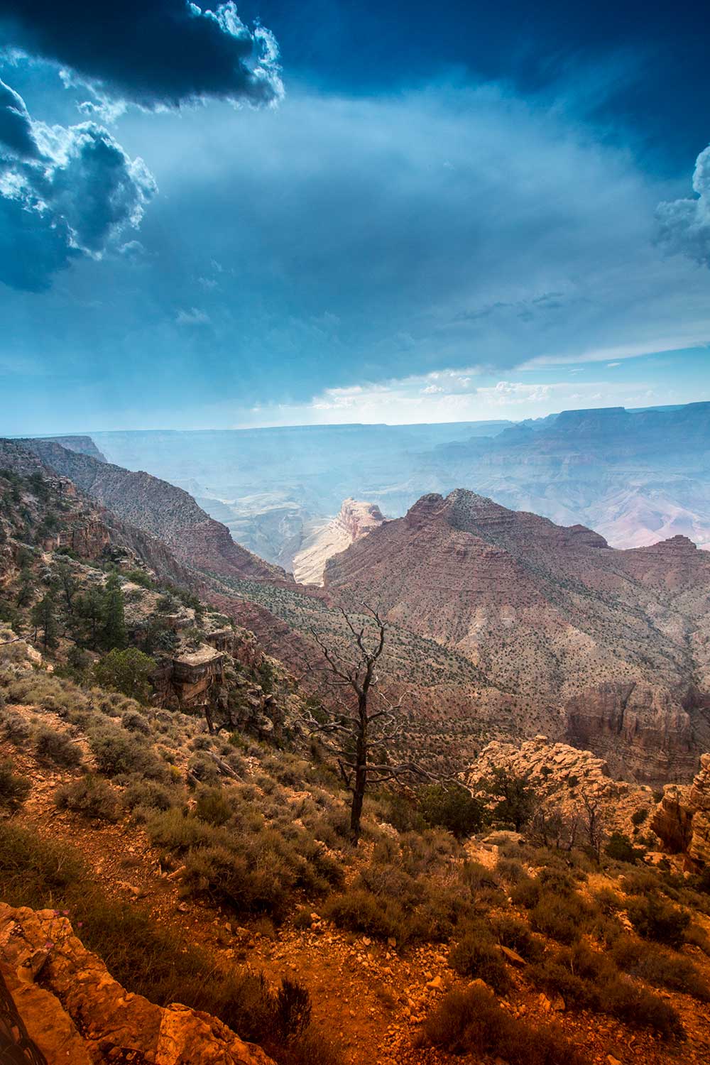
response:
<path id="1" fill-rule="evenodd" d="M 155 182 L 101 126 L 34 121 L 0 86 L 0 281 L 39 291 L 78 256 L 100 258 L 136 227 Z"/>

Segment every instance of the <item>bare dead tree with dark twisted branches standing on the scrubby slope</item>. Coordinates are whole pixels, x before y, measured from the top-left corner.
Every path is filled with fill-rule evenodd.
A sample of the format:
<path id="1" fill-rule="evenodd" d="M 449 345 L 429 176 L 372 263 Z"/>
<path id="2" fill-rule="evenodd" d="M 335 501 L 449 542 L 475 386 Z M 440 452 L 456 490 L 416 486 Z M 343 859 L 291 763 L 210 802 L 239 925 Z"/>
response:
<path id="1" fill-rule="evenodd" d="M 373 607 L 363 604 L 363 610 L 371 620 L 358 627 L 356 616 L 341 608 L 348 630 L 345 651 L 330 646 L 311 630 L 323 662 L 318 667 L 311 663 L 309 671 L 325 675 L 329 690 L 319 707 L 324 720 L 317 721 L 310 714 L 307 721 L 311 734 L 318 735 L 335 756 L 343 783 L 352 797 L 350 838 L 356 847 L 368 787 L 412 777 L 432 779 L 413 761 L 386 760 L 387 748 L 403 738 L 401 714 L 407 693 L 393 702 L 382 690 L 378 663 L 384 651 L 386 625 Z"/>

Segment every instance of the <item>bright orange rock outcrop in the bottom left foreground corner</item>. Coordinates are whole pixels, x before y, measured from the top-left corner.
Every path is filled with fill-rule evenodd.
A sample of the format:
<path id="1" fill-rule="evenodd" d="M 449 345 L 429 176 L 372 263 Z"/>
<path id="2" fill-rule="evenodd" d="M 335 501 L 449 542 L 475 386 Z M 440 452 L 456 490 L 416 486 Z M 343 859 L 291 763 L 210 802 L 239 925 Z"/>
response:
<path id="1" fill-rule="evenodd" d="M 48 1065 L 274 1065 L 209 1014 L 126 992 L 53 910 L 0 903 L 0 965 Z"/>

